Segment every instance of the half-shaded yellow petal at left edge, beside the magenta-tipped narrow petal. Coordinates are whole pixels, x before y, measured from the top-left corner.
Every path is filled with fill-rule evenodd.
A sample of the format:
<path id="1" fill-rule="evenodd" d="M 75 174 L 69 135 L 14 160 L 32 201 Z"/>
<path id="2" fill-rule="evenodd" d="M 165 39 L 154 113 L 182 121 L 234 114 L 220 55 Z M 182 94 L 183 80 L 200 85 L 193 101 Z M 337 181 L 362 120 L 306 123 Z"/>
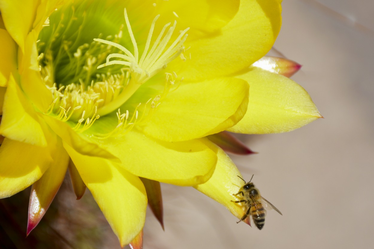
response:
<path id="1" fill-rule="evenodd" d="M 0 147 L 0 198 L 12 196 L 33 184 L 52 162 L 49 147 L 4 139 Z"/>

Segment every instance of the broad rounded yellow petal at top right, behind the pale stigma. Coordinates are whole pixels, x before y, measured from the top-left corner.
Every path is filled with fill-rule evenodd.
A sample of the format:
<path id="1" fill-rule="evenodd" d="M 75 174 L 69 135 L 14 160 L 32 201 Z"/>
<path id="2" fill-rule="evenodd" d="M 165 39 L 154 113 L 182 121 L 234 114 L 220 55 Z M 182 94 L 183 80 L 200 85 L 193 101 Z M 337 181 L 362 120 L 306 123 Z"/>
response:
<path id="1" fill-rule="evenodd" d="M 263 57 L 280 28 L 281 4 L 277 0 L 240 1 L 238 13 L 220 33 L 191 42 L 187 39 L 187 60 L 175 60 L 171 67 L 180 67 L 178 76 L 186 80 L 227 76 Z"/>

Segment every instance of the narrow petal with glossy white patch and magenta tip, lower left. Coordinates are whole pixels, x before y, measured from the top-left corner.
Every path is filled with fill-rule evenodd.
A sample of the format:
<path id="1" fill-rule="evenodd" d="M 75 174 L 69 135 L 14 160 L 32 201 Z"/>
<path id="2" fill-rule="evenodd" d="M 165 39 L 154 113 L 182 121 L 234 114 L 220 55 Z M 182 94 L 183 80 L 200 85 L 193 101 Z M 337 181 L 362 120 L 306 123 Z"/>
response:
<path id="1" fill-rule="evenodd" d="M 69 156 L 62 147 L 61 139 L 53 153 L 53 162 L 43 176 L 31 188 L 28 206 L 27 235 L 39 223 L 64 180 Z"/>

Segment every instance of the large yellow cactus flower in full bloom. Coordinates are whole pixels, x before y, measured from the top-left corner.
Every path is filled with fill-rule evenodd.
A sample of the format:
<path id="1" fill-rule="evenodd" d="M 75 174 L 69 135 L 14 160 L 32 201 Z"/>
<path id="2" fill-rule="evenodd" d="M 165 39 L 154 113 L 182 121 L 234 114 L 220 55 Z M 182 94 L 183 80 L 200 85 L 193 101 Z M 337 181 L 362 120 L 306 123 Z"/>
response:
<path id="1" fill-rule="evenodd" d="M 147 179 L 193 186 L 240 218 L 230 202 L 240 172 L 206 136 L 321 117 L 297 83 L 251 67 L 279 33 L 279 0 L 4 0 L 0 10 L 0 197 L 33 184 L 28 232 L 68 167 L 122 246 L 141 234 Z"/>

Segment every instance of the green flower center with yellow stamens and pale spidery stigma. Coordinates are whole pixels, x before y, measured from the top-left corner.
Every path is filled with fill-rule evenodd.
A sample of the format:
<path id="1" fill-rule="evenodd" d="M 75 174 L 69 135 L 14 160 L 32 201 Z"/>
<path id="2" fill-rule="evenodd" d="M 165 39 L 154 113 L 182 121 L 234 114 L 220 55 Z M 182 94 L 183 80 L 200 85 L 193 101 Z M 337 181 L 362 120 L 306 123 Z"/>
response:
<path id="1" fill-rule="evenodd" d="M 115 110 L 115 129 L 132 127 L 141 102 L 130 112 L 121 113 L 120 108 L 142 84 L 183 52 L 187 38 L 188 28 L 171 40 L 174 22 L 164 25 L 152 39 L 157 15 L 147 40 L 141 41 L 145 46 L 140 55 L 126 9 L 125 18 L 115 18 L 101 2 L 83 1 L 56 10 L 46 20 L 37 42 L 40 73 L 54 99 L 48 114 L 64 122 L 73 121 L 73 129 L 81 132 Z M 168 84 L 174 83 L 173 78 L 166 74 Z M 140 101 L 146 101 L 144 109 L 149 102 L 148 107 L 155 108 L 159 99 L 156 95 Z"/>

